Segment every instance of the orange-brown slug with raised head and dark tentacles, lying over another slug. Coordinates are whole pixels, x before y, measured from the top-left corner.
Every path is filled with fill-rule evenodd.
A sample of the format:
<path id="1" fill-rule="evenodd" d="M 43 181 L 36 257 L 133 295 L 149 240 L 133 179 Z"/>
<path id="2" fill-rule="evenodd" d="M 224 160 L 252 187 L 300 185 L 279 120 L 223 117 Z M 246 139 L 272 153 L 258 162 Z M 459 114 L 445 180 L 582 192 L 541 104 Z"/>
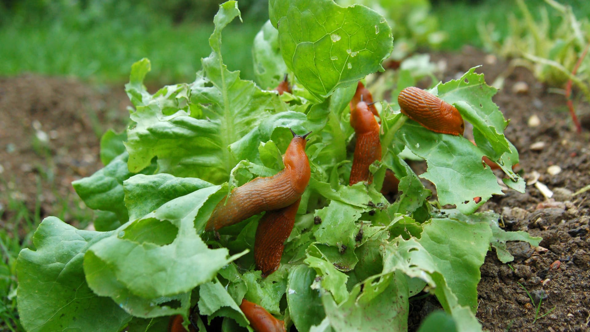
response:
<path id="1" fill-rule="evenodd" d="M 285 168 L 271 177 L 257 177 L 235 188 L 227 203 L 224 198 L 217 204 L 205 230 L 218 230 L 262 211 L 282 209 L 299 200 L 311 175 L 305 154 L 306 137 L 310 132 L 303 136 L 296 135 L 292 130 L 291 133 L 293 139 L 283 155 Z"/>

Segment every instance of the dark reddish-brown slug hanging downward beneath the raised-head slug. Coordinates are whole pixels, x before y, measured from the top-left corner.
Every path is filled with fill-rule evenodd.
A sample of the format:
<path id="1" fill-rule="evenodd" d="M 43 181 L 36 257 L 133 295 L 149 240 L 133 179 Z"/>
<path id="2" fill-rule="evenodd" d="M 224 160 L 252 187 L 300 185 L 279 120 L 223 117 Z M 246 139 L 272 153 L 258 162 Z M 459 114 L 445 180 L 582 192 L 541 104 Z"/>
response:
<path id="1" fill-rule="evenodd" d="M 284 242 L 293 230 L 300 201 L 301 198 L 283 209 L 267 211 L 258 222 L 254 240 L 254 261 L 256 269 L 262 271 L 263 278 L 278 269 L 285 249 Z"/>

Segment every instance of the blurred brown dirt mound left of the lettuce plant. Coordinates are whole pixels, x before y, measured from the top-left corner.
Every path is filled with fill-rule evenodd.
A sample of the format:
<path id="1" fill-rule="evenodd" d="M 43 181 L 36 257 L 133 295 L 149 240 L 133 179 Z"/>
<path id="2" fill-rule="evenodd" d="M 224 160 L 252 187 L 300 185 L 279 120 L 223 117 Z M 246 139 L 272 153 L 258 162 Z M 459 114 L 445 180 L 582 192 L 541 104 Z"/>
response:
<path id="1" fill-rule="evenodd" d="M 41 218 L 60 214 L 54 207 L 70 201 L 71 181 L 101 167 L 100 135 L 124 128 L 127 105 L 122 87 L 33 75 L 0 79 L 0 204 L 24 202 L 34 211 L 37 203 Z"/>

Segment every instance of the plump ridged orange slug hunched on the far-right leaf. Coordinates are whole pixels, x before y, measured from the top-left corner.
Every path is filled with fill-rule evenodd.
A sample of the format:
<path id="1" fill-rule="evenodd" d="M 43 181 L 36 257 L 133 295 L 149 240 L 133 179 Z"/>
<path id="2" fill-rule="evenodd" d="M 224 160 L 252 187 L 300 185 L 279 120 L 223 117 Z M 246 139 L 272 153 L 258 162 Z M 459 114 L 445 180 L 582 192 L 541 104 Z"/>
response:
<path id="1" fill-rule="evenodd" d="M 455 106 L 418 87 L 407 87 L 398 95 L 401 112 L 424 128 L 441 134 L 463 135 L 465 123 Z"/>

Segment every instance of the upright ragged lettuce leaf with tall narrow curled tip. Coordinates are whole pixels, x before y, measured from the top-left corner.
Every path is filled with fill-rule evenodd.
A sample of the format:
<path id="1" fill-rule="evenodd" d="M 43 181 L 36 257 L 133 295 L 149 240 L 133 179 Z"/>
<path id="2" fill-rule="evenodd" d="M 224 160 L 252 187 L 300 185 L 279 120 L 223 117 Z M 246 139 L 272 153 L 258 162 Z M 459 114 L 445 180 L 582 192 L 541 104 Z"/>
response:
<path id="1" fill-rule="evenodd" d="M 135 124 L 127 130 L 125 144 L 129 170 L 142 170 L 158 157 L 160 172 L 222 183 L 240 160 L 228 146 L 266 118 L 287 110 L 276 92 L 240 80 L 239 71 L 229 71 L 223 63 L 221 31 L 239 15 L 235 1 L 219 7 L 209 38 L 212 51 L 202 59 L 195 82 L 165 87 L 135 105 Z M 260 141 L 251 142 L 255 151 Z"/>

